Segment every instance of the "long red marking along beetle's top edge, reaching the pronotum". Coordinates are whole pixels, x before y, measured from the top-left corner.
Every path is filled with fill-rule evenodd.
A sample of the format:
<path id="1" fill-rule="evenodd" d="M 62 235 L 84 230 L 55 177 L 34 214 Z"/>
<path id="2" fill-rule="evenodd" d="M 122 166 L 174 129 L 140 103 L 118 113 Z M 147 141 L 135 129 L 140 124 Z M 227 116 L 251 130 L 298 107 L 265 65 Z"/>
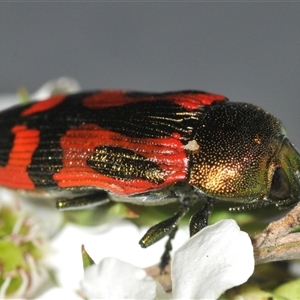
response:
<path id="1" fill-rule="evenodd" d="M 104 90 L 83 99 L 82 104 L 90 109 L 102 109 L 107 107 L 122 106 L 129 103 L 145 101 L 171 101 L 181 105 L 185 109 L 195 110 L 203 105 L 211 105 L 213 102 L 224 102 L 227 98 L 218 94 L 209 93 L 174 93 L 171 95 L 145 95 L 130 97 L 130 93 L 118 90 Z"/>

